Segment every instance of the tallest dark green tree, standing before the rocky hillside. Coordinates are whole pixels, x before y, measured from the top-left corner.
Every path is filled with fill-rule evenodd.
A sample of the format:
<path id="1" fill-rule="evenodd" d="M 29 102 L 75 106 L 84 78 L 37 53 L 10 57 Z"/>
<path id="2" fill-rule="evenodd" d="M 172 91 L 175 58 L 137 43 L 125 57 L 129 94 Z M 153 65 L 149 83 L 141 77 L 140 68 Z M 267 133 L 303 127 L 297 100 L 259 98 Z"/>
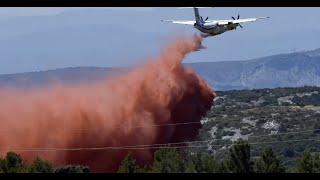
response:
<path id="1" fill-rule="evenodd" d="M 253 162 L 250 157 L 250 146 L 246 141 L 239 140 L 229 149 L 228 168 L 233 173 L 252 173 Z"/>

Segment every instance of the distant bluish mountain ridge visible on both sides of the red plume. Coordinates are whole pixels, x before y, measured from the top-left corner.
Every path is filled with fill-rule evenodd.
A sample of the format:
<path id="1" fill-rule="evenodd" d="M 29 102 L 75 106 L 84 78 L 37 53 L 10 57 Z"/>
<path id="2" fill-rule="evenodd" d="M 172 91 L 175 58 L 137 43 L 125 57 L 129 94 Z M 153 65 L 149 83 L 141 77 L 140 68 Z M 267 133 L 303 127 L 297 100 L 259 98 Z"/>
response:
<path id="1" fill-rule="evenodd" d="M 245 61 L 184 63 L 203 77 L 214 90 L 320 86 L 320 48 Z M 63 83 L 91 82 L 124 67 L 80 66 L 0 75 L 0 87 L 45 85 L 54 77 Z M 21 81 L 21 79 L 24 79 Z"/>

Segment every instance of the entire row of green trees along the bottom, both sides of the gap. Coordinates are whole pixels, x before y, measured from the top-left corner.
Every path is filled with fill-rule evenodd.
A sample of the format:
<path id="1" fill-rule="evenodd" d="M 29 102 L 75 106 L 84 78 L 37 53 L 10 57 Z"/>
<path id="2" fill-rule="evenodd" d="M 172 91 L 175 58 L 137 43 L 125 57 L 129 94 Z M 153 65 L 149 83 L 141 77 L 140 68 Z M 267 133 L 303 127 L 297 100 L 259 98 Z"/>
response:
<path id="1" fill-rule="evenodd" d="M 1 173 L 90 173 L 87 166 L 67 165 L 54 168 L 52 163 L 36 157 L 28 165 L 19 154 L 8 152 L 0 158 Z M 218 159 L 205 152 L 187 153 L 172 146 L 163 146 L 154 153 L 153 163 L 139 166 L 131 153 L 122 160 L 118 173 L 320 173 L 320 154 L 305 150 L 296 159 L 293 169 L 271 147 L 260 157 L 252 159 L 250 145 L 239 140 L 229 149 L 226 159 Z"/>

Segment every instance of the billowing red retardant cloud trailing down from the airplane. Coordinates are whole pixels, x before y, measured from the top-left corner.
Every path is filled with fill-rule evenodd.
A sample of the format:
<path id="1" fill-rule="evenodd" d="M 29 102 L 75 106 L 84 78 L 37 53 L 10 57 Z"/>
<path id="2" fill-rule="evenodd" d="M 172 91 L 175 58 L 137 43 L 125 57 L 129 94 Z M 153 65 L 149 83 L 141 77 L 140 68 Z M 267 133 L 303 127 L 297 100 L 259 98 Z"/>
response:
<path id="1" fill-rule="evenodd" d="M 208 84 L 182 65 L 184 56 L 202 48 L 202 38 L 179 38 L 160 56 L 133 71 L 94 85 L 51 86 L 30 91 L 0 91 L 0 147 L 35 156 L 56 166 L 88 165 L 112 172 L 124 149 L 22 151 L 23 148 L 92 148 L 194 140 L 199 122 L 216 96 Z M 19 149 L 21 151 L 19 151 Z M 155 149 L 130 150 L 140 164 L 152 162 Z"/>

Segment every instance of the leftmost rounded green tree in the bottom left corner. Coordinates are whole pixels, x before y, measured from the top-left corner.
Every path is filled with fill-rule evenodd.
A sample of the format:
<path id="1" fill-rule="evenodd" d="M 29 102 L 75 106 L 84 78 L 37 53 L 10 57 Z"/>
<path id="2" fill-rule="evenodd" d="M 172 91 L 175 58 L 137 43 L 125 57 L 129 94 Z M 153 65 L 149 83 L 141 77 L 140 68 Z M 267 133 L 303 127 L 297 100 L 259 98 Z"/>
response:
<path id="1" fill-rule="evenodd" d="M 1 160 L 1 172 L 4 173 L 25 173 L 27 172 L 27 165 L 19 154 L 15 152 L 8 152 L 5 159 Z"/>

